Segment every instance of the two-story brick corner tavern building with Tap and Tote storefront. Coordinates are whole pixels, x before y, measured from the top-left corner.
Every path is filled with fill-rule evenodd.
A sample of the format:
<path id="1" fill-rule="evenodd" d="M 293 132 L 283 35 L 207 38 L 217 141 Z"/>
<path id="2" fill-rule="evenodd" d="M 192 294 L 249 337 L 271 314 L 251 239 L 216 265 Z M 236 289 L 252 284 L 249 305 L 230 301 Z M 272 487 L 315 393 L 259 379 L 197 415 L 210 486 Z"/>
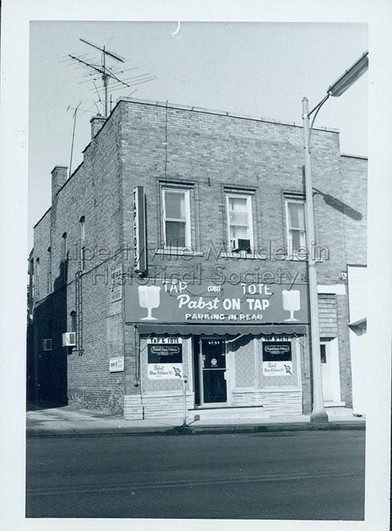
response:
<path id="1" fill-rule="evenodd" d="M 324 400 L 352 408 L 348 266 L 366 264 L 366 160 L 302 127 L 121 100 L 34 228 L 31 400 L 126 419 L 309 413 L 307 253 Z M 351 323 L 352 324 L 352 323 Z"/>

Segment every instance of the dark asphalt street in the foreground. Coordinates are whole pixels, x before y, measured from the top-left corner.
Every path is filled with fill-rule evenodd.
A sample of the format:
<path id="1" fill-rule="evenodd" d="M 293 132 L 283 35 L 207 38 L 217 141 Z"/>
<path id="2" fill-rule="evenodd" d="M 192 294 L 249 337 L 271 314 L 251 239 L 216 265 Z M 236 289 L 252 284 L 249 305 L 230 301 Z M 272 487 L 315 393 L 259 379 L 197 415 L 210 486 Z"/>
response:
<path id="1" fill-rule="evenodd" d="M 26 516 L 362 520 L 363 430 L 27 440 Z"/>

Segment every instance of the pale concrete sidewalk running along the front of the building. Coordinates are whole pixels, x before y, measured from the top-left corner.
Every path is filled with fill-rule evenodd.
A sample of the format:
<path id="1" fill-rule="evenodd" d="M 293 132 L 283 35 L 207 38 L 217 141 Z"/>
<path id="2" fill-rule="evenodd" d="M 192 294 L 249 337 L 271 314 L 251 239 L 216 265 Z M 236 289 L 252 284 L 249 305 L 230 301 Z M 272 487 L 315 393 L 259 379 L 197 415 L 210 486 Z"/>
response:
<path id="1" fill-rule="evenodd" d="M 77 410 L 72 406 L 37 409 L 26 414 L 27 437 L 34 436 L 96 436 L 143 434 L 252 433 L 297 430 L 365 429 L 365 420 L 353 415 L 331 415 L 328 423 L 310 422 L 309 415 L 267 419 L 224 419 L 194 421 L 182 426 L 180 419 L 124 420 L 97 411 Z"/>

